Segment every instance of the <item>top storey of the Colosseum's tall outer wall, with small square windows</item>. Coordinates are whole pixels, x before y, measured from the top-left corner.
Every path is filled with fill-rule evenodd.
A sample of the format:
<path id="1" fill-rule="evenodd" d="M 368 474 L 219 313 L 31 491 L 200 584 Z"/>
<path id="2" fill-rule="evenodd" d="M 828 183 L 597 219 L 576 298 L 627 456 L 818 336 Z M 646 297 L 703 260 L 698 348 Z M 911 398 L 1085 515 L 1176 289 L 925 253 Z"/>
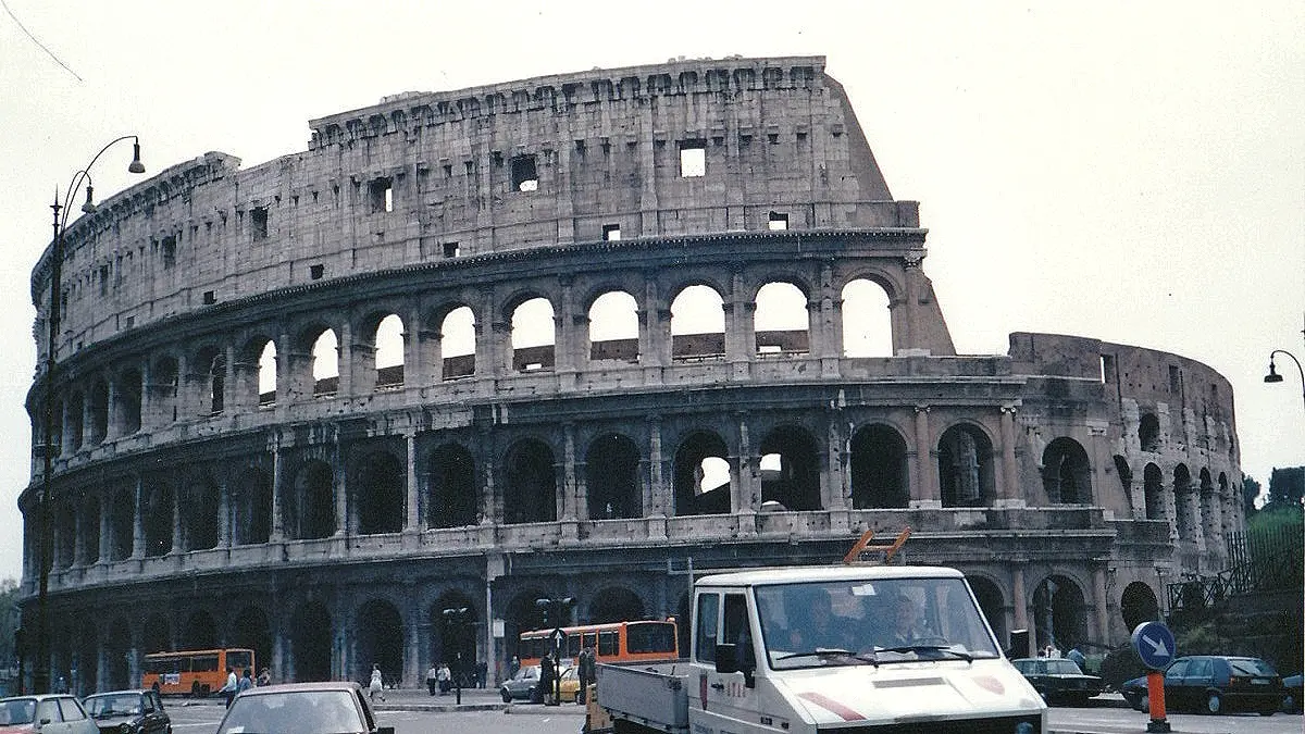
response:
<path id="1" fill-rule="evenodd" d="M 611 225 L 622 239 L 766 230 L 776 212 L 797 230 L 917 227 L 823 65 L 688 60 L 408 93 L 313 120 L 307 152 L 249 170 L 205 154 L 69 229 L 65 346 L 454 251 L 600 240 Z M 705 148 L 706 175 L 680 175 L 685 145 Z M 536 191 L 513 187 L 518 161 Z M 42 317 L 47 265 L 33 273 Z M 929 338 L 953 351 L 945 327 Z"/>

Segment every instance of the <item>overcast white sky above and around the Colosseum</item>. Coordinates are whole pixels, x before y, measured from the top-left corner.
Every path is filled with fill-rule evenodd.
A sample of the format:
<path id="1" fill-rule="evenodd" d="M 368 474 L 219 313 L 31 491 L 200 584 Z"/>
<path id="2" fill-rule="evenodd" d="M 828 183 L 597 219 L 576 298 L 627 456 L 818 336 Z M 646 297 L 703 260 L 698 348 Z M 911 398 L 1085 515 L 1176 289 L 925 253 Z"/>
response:
<path id="1" fill-rule="evenodd" d="M 1039 330 L 1141 345 L 1232 380 L 1242 470 L 1305 464 L 1305 3 L 341 3 L 4 0 L 0 577 L 21 573 L 31 266 L 50 201 L 100 146 L 151 174 L 307 148 L 312 118 L 407 90 L 818 54 L 897 199 L 958 350 Z M 76 76 L 74 76 L 76 74 Z M 80 80 L 77 78 L 80 77 Z M 136 183 L 130 149 L 97 197 Z"/>

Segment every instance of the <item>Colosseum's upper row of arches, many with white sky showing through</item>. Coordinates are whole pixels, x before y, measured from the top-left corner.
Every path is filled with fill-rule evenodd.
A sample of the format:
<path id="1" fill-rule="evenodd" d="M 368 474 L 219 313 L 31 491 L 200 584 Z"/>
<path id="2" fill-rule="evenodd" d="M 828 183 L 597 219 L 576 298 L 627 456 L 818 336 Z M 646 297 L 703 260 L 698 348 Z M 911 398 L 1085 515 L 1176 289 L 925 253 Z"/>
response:
<path id="1" fill-rule="evenodd" d="M 812 353 L 812 315 L 821 302 L 808 286 L 771 281 L 746 303 L 753 359 Z M 837 307 L 855 319 L 844 324 L 842 355 L 893 355 L 890 296 L 877 279 L 857 277 L 842 287 Z M 145 366 L 91 375 L 54 406 L 51 444 L 67 453 L 176 421 L 222 415 L 230 410 L 333 397 L 341 392 L 392 391 L 414 384 L 411 366 L 428 375 L 418 381 L 446 381 L 488 371 L 535 372 L 557 366 L 559 351 L 574 362 L 641 364 L 650 359 L 650 317 L 626 290 L 604 290 L 585 316 L 568 324 L 553 302 L 531 293 L 505 304 L 502 325 L 478 320 L 472 304 L 450 303 L 425 315 L 423 330 L 403 315 L 368 312 L 346 334 L 320 319 L 291 333 L 271 336 L 254 328 L 238 345 L 202 343 L 189 354 L 162 354 Z M 671 360 L 723 359 L 727 333 L 739 329 L 733 304 L 711 283 L 686 285 L 673 294 L 668 320 Z M 733 325 L 731 325 L 733 324 Z M 274 328 L 279 332 L 281 328 Z M 506 332 L 504 343 L 499 333 Z M 579 345 L 578 342 L 583 342 Z M 500 360 L 502 364 L 496 364 Z M 570 357 L 568 357 L 570 359 Z M 350 376 L 342 383 L 342 374 Z M 34 427 L 39 427 L 37 419 Z"/>

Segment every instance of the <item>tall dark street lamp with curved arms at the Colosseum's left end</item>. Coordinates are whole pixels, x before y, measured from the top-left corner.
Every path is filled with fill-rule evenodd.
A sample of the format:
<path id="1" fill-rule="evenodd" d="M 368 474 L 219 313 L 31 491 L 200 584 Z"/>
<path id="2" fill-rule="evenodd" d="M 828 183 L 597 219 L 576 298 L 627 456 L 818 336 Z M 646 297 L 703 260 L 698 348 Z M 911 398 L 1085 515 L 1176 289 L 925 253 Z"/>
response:
<path id="1" fill-rule="evenodd" d="M 37 554 L 40 563 L 38 572 L 39 586 L 37 592 L 37 663 L 33 667 L 33 687 L 37 692 L 50 691 L 50 622 L 46 607 L 50 597 L 51 556 L 54 555 L 52 538 L 50 535 L 50 495 L 55 449 L 51 443 L 55 423 L 55 345 L 59 340 L 59 307 L 61 296 L 60 281 L 63 279 L 64 266 L 64 234 L 68 230 L 68 212 L 70 210 L 73 196 L 77 192 L 77 187 L 84 183 L 86 184 L 86 202 L 82 204 L 81 210 L 87 214 L 95 212 L 94 187 L 90 180 L 90 170 L 95 166 L 95 162 L 99 161 L 99 157 L 103 155 L 106 150 L 124 140 L 130 140 L 133 148 L 132 162 L 127 166 L 127 170 L 132 174 L 144 174 L 145 165 L 141 163 L 141 140 L 134 135 L 124 135 L 123 137 L 108 141 L 108 144 L 104 148 L 100 148 L 99 153 L 90 159 L 90 163 L 86 163 L 85 168 L 73 174 L 73 179 L 68 184 L 68 189 L 64 192 L 63 204 L 59 201 L 59 189 L 56 188 L 55 201 L 50 205 L 50 208 L 55 212 L 55 232 L 50 248 L 50 313 L 47 316 L 50 321 L 50 340 L 46 342 L 46 405 L 44 424 L 40 430 L 42 473 L 40 490 L 37 495 L 37 513 L 40 528 L 40 547 Z"/>

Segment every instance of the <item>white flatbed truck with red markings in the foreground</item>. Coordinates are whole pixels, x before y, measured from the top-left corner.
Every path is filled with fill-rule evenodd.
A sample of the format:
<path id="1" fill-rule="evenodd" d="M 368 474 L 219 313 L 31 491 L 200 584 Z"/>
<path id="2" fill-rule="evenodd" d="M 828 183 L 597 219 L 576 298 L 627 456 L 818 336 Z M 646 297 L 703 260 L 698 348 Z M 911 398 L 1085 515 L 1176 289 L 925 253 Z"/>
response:
<path id="1" fill-rule="evenodd" d="M 1047 731 L 964 576 L 934 567 L 705 576 L 688 657 L 599 665 L 595 699 L 589 730 L 615 734 Z"/>

